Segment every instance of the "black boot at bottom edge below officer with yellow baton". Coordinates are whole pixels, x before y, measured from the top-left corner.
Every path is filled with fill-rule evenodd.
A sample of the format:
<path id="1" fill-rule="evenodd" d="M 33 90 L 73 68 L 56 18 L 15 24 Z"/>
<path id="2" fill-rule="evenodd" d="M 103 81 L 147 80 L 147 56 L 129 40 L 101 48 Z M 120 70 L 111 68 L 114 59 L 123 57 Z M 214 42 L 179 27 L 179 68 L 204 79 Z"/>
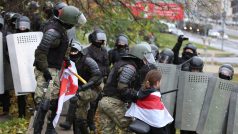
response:
<path id="1" fill-rule="evenodd" d="M 76 119 L 73 123 L 74 134 L 89 134 L 87 121 L 83 119 Z"/>

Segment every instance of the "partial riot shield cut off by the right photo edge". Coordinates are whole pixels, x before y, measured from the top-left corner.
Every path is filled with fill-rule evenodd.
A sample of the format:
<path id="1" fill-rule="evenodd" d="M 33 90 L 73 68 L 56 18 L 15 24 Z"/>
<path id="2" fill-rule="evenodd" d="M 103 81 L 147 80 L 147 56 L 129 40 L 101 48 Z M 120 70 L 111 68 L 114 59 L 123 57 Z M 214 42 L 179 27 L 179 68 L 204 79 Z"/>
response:
<path id="1" fill-rule="evenodd" d="M 238 134 L 238 86 L 234 86 L 229 102 L 226 134 Z"/>

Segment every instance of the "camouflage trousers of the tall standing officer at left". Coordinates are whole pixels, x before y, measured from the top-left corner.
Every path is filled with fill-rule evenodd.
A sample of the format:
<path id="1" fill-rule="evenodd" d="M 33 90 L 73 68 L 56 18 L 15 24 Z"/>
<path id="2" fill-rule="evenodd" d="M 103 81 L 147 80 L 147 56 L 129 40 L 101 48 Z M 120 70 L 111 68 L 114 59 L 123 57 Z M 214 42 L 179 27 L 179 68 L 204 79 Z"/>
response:
<path id="1" fill-rule="evenodd" d="M 49 68 L 49 72 L 52 76 L 53 83 L 49 85 L 45 97 L 50 100 L 56 100 L 58 99 L 60 89 L 60 70 L 57 70 L 55 68 Z M 47 82 L 45 81 L 43 72 L 35 68 L 34 73 L 37 82 L 34 98 L 36 103 L 39 104 L 43 99 L 44 88 L 46 88 Z"/>

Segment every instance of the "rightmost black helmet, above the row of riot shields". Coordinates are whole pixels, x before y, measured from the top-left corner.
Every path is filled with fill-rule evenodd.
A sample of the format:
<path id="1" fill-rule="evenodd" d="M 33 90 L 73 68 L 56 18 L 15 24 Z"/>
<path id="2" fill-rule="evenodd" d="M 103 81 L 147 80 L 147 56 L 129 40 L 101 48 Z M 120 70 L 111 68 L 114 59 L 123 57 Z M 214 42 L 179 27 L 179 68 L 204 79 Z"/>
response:
<path id="1" fill-rule="evenodd" d="M 219 68 L 219 78 L 225 80 L 232 80 L 234 75 L 234 69 L 231 64 L 223 64 Z"/>

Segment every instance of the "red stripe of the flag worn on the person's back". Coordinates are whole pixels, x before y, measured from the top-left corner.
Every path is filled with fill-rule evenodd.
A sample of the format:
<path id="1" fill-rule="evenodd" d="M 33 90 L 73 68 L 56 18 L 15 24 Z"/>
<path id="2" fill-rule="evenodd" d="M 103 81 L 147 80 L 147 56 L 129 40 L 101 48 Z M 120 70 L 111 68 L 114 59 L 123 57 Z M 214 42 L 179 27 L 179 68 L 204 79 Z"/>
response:
<path id="1" fill-rule="evenodd" d="M 161 98 L 152 94 L 142 100 L 137 100 L 136 105 L 143 109 L 164 109 L 164 104 L 161 102 Z"/>

